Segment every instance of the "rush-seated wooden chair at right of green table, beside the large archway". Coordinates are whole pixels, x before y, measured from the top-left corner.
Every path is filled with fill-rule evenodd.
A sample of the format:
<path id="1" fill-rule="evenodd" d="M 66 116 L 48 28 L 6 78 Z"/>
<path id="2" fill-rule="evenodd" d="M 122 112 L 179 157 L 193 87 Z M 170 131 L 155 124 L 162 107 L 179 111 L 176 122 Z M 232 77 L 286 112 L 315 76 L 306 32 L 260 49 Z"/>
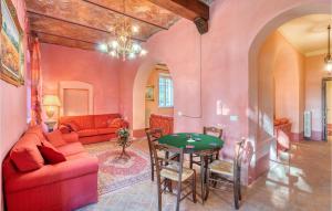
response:
<path id="1" fill-rule="evenodd" d="M 216 188 L 217 183 L 226 184 L 227 187 L 230 184 L 234 189 L 235 208 L 237 210 L 239 209 L 239 202 L 241 201 L 241 162 L 245 151 L 245 143 L 246 139 L 243 138 L 241 141 L 236 144 L 232 161 L 214 160 L 209 163 L 205 199 L 208 198 L 209 189 Z"/>

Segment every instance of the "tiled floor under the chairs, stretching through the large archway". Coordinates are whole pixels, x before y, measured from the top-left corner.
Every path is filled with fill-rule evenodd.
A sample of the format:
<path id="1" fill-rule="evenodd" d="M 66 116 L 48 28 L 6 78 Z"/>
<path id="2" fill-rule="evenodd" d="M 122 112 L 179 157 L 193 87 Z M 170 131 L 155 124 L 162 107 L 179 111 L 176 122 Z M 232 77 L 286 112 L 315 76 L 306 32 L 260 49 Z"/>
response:
<path id="1" fill-rule="evenodd" d="M 147 151 L 145 141 L 137 140 L 134 145 Z M 292 145 L 290 154 L 282 155 L 283 160 L 271 161 L 269 172 L 243 190 L 240 210 L 330 211 L 331 147 L 331 140 Z M 98 203 L 80 210 L 157 210 L 156 184 L 151 180 L 143 181 L 101 196 Z M 163 210 L 175 210 L 174 196 L 163 194 Z M 232 193 L 212 191 L 204 205 L 200 201 L 195 204 L 186 199 L 180 203 L 180 210 L 234 210 Z"/>

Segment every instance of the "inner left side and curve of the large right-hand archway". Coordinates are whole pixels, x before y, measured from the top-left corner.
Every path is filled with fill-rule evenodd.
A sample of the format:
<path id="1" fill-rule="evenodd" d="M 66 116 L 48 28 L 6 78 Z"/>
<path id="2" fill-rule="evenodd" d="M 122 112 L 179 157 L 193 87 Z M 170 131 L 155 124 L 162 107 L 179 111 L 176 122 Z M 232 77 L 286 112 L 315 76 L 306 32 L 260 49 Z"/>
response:
<path id="1" fill-rule="evenodd" d="M 273 140 L 273 73 L 260 72 L 258 56 L 266 39 L 283 23 L 315 13 L 331 13 L 328 2 L 308 3 L 291 8 L 268 21 L 255 36 L 249 49 L 249 139 L 256 152 L 249 167 L 249 183 L 269 168 L 269 150 Z"/>

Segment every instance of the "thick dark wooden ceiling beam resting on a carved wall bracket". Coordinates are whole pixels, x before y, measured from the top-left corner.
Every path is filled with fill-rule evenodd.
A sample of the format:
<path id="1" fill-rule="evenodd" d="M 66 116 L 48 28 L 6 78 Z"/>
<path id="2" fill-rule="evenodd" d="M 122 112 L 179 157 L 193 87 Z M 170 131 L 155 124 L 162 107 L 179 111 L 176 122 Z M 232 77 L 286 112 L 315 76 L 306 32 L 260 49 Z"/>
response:
<path id="1" fill-rule="evenodd" d="M 200 34 L 208 31 L 209 7 L 199 0 L 148 0 L 179 17 L 194 21 Z"/>

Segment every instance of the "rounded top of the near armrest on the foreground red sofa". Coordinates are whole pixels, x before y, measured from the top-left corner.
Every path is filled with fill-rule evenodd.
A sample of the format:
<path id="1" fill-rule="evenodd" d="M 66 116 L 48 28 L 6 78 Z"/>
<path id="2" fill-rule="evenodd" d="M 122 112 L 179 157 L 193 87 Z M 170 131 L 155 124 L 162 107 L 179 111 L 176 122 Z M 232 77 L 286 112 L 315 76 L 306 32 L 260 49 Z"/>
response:
<path id="1" fill-rule="evenodd" d="M 56 165 L 45 165 L 42 168 L 17 173 L 4 183 L 6 192 L 15 192 L 25 189 L 79 178 L 90 173 L 97 173 L 98 162 L 96 157 L 84 156 L 77 159 L 66 160 Z"/>

